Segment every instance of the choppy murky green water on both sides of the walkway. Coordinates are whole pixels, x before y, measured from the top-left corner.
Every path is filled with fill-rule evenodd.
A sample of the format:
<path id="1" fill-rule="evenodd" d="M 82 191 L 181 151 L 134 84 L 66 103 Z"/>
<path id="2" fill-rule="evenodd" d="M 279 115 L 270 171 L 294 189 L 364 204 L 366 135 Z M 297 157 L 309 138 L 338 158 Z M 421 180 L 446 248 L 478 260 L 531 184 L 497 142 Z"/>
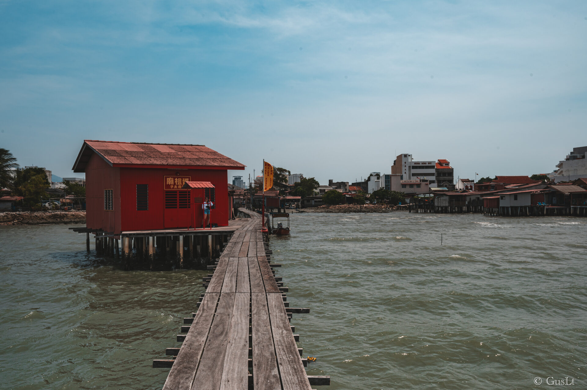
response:
<path id="1" fill-rule="evenodd" d="M 587 219 L 308 214 L 272 239 L 324 389 L 586 388 Z M 70 226 L 0 226 L 11 389 L 160 389 L 205 271 L 124 272 Z M 440 234 L 443 233 L 443 245 Z M 541 386 L 533 384 L 541 377 Z"/>

